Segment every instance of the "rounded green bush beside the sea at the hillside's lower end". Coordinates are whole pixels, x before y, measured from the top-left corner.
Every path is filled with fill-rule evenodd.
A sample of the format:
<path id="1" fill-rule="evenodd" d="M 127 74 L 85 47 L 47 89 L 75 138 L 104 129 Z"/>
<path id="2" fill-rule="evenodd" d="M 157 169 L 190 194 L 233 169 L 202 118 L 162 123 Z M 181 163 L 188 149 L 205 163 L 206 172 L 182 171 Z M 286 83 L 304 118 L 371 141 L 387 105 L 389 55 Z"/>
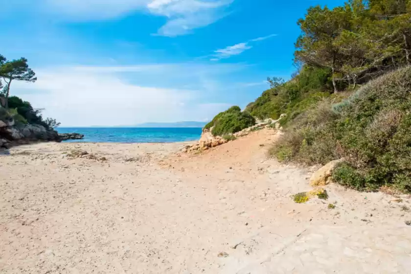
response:
<path id="1" fill-rule="evenodd" d="M 238 132 L 251 125 L 255 125 L 255 119 L 250 113 L 241 112 L 240 107 L 232 106 L 228 110 L 217 114 L 204 128 L 210 129 L 212 127 L 211 133 L 214 136 L 223 136 Z"/>

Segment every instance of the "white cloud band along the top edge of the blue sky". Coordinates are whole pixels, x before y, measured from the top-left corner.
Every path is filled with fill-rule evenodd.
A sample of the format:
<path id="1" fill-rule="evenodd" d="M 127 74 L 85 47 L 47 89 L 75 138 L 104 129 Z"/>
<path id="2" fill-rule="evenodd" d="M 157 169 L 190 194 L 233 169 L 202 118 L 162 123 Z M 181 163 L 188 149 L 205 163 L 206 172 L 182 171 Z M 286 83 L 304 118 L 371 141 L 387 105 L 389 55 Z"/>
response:
<path id="1" fill-rule="evenodd" d="M 46 9 L 74 20 L 102 20 L 135 11 L 164 16 L 158 35 L 178 36 L 223 18 L 233 0 L 43 0 Z"/>

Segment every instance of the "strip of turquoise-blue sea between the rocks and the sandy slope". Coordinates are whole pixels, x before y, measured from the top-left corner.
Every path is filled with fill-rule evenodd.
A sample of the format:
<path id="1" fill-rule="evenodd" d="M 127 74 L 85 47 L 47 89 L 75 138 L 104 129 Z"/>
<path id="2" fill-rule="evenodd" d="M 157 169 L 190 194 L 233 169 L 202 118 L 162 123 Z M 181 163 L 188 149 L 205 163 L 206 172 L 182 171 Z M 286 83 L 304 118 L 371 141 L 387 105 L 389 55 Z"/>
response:
<path id="1" fill-rule="evenodd" d="M 143 128 L 143 127 L 58 127 L 59 133 L 84 134 L 83 140 L 64 142 L 114 143 L 174 143 L 200 139 L 202 129 L 197 127 Z"/>

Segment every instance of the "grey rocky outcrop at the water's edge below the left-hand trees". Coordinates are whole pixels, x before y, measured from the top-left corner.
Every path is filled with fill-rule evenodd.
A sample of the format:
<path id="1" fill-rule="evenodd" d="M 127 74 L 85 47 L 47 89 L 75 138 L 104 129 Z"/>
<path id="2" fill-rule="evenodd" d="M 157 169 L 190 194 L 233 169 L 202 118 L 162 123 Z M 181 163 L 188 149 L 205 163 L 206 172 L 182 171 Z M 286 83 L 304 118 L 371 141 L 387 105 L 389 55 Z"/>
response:
<path id="1" fill-rule="evenodd" d="M 0 121 L 0 147 L 26 144 L 38 141 L 55 141 L 61 139 L 55 130 L 42 125 L 14 125 L 14 121 Z"/>

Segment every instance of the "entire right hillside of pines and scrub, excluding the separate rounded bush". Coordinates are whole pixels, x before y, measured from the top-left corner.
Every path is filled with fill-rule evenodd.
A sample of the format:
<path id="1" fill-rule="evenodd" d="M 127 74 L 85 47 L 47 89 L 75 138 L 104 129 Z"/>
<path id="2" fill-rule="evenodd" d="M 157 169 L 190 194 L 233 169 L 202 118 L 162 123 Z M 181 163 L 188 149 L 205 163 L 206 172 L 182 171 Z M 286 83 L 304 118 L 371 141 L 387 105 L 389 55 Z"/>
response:
<path id="1" fill-rule="evenodd" d="M 280 120 L 280 161 L 325 164 L 358 190 L 411 193 L 411 0 L 350 0 L 310 7 L 298 20 L 298 72 L 245 109 Z"/>

